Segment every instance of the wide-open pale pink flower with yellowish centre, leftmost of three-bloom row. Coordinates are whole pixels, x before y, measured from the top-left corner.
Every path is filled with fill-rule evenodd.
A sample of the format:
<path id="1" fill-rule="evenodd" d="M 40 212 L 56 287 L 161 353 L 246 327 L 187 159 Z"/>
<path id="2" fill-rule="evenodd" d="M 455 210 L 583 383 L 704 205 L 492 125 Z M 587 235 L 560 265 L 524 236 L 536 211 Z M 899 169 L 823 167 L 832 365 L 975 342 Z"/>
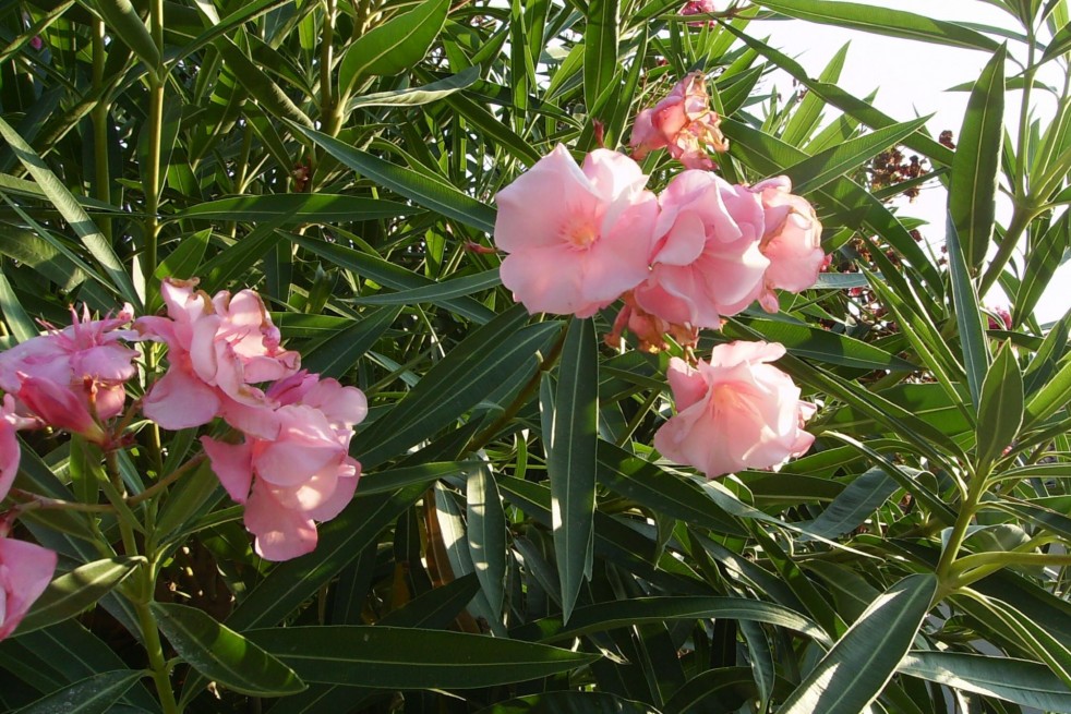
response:
<path id="1" fill-rule="evenodd" d="M 530 313 L 588 317 L 647 277 L 658 201 L 628 157 L 558 145 L 495 196 L 502 282 Z"/>

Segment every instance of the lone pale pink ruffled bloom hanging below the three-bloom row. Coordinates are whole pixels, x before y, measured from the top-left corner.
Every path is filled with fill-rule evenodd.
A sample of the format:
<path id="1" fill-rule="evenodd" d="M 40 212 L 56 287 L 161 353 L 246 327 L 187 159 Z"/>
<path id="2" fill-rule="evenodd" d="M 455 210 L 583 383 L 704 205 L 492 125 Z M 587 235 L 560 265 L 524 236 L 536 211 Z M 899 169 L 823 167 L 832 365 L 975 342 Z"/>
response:
<path id="1" fill-rule="evenodd" d="M 697 368 L 673 358 L 667 376 L 677 413 L 654 434 L 654 448 L 708 479 L 769 469 L 806 452 L 815 437 L 802 427 L 815 407 L 799 401 L 792 378 L 768 364 L 784 353 L 775 342 L 730 342 Z"/>

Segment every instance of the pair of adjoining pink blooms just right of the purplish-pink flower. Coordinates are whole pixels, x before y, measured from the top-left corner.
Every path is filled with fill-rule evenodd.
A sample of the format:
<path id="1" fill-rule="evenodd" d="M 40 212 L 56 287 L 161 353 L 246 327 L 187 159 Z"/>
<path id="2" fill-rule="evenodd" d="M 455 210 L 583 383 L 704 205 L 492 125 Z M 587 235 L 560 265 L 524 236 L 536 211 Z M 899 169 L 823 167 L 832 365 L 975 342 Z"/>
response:
<path id="1" fill-rule="evenodd" d="M 368 412 L 364 394 L 299 372 L 300 355 L 280 347 L 251 290 L 209 297 L 196 280 L 168 279 L 161 293 L 167 317 L 134 324 L 143 339 L 167 343 L 170 365 L 143 412 L 175 429 L 222 417 L 242 440 L 202 444 L 227 493 L 245 505 L 256 552 L 268 560 L 310 553 L 315 521 L 337 516 L 357 487 L 361 465 L 348 447 Z"/>

